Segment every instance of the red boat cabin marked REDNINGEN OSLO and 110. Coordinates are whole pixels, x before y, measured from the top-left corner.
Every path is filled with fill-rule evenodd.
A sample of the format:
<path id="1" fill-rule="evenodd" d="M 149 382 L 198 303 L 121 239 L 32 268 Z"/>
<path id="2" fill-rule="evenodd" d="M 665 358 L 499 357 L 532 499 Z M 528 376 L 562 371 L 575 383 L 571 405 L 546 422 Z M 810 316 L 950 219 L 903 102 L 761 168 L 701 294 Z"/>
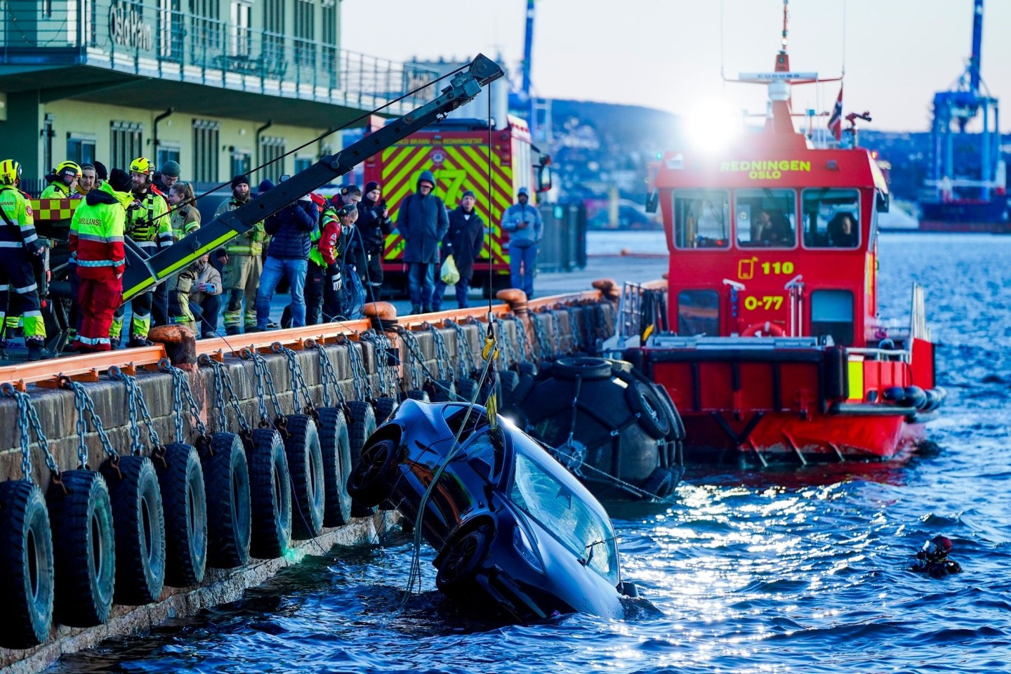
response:
<path id="1" fill-rule="evenodd" d="M 791 137 L 792 136 L 792 137 Z M 888 186 L 862 149 L 755 133 L 722 156 L 667 153 L 655 179 L 681 336 L 821 336 L 871 347 L 878 212 Z"/>

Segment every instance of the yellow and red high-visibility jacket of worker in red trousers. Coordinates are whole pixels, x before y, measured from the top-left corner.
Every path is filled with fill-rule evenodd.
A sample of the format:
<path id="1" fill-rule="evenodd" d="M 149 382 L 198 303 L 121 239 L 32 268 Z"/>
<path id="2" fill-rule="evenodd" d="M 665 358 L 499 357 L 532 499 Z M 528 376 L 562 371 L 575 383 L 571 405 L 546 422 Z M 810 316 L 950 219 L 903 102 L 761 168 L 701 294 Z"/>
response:
<path id="1" fill-rule="evenodd" d="M 126 268 L 123 233 L 129 192 L 116 192 L 108 183 L 88 192 L 70 223 L 70 252 L 77 255 L 77 274 L 83 279 L 107 278 L 108 269 Z"/>

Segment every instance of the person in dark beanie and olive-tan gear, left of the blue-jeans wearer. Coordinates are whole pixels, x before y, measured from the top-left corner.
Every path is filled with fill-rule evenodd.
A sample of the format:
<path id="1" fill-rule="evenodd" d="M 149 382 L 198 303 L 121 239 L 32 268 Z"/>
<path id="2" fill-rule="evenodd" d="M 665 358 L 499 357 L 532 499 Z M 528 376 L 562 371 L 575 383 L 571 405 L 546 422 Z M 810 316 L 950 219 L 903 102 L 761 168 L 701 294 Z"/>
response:
<path id="1" fill-rule="evenodd" d="M 260 183 L 260 191 L 264 192 L 266 185 L 273 186 L 269 180 Z M 269 188 L 268 188 L 269 189 Z M 222 201 L 214 211 L 214 217 L 221 213 L 235 210 L 250 200 L 249 176 L 236 176 L 232 179 L 232 198 Z M 245 325 L 246 331 L 256 327 L 256 294 L 260 287 L 260 274 L 263 272 L 263 243 L 267 233 L 263 222 L 257 222 L 245 233 L 233 238 L 224 248 L 217 249 L 214 257 L 221 264 L 221 276 L 224 277 L 224 289 L 228 291 L 227 303 L 224 306 L 224 331 L 226 334 L 239 334 Z M 243 313 L 243 298 L 246 298 L 246 313 Z"/>

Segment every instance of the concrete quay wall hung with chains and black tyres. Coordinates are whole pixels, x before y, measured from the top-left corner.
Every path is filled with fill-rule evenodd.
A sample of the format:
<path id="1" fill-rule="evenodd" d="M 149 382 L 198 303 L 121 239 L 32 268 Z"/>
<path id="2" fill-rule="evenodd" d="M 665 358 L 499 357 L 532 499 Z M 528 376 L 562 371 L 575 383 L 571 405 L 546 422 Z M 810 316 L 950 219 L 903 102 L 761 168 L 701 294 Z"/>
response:
<path id="1" fill-rule="evenodd" d="M 525 313 L 518 311 L 518 314 Z M 592 351 L 595 345 L 614 330 L 615 305 L 606 300 L 579 300 L 577 304 L 562 307 L 556 305 L 531 311 L 519 320 L 504 317 L 500 321 L 501 333 L 499 342 L 499 368 L 508 368 L 518 361 L 540 361 L 566 355 Z M 481 316 L 480 310 L 475 310 L 475 317 Z M 390 331 L 391 325 L 384 324 L 383 329 L 390 335 L 392 357 L 387 363 L 399 362 L 395 365 L 399 382 L 399 392 L 420 388 L 426 379 L 425 370 L 438 378 L 437 341 L 422 319 L 428 316 L 410 316 L 401 319 L 400 324 L 406 324 L 407 329 L 417 339 L 417 348 L 408 350 L 407 342 Z M 435 322 L 439 314 L 434 314 L 430 320 Z M 458 319 L 459 320 L 459 319 Z M 440 323 L 441 324 L 441 323 Z M 484 345 L 487 323 L 481 320 L 459 320 L 458 323 L 469 343 L 470 351 L 480 365 L 481 348 Z M 319 327 L 319 326 L 316 326 Z M 523 334 L 520 328 L 523 328 Z M 451 326 L 438 328 L 443 336 L 451 363 L 456 366 L 465 352 L 465 346 L 460 344 L 458 332 Z M 526 335 L 525 340 L 521 336 Z M 254 335 L 249 335 L 254 336 Z M 260 343 L 269 341 L 269 333 L 255 335 Z M 373 395 L 380 395 L 379 367 L 376 350 L 372 343 L 360 339 L 358 334 L 348 335 L 344 344 L 328 343 L 324 348 L 330 355 L 337 379 L 343 394 L 348 400 L 357 399 L 355 379 L 352 371 L 352 351 L 362 356 L 365 371 Z M 236 349 L 243 346 L 243 335 L 228 338 Z M 411 341 L 413 342 L 413 341 Z M 309 389 L 309 395 L 316 406 L 324 403 L 324 377 L 321 376 L 319 359 L 316 349 L 297 350 L 296 359 L 302 377 Z M 264 353 L 261 350 L 284 414 L 293 412 L 291 375 L 288 361 L 284 355 Z M 412 353 L 411 353 L 412 352 Z M 126 352 L 124 352 L 126 354 Z M 232 380 L 235 391 L 240 399 L 241 408 L 247 421 L 256 426 L 260 419 L 260 401 L 256 391 L 256 376 L 253 362 L 239 358 L 235 354 L 221 354 L 225 371 Z M 128 360 L 124 356 L 124 361 Z M 419 362 L 420 361 L 420 362 Z M 409 365 L 408 365 L 409 364 Z M 59 374 L 59 361 L 54 361 L 54 375 Z M 445 363 L 444 363 L 445 365 Z M 219 427 L 218 409 L 216 406 L 215 384 L 213 370 L 207 366 L 183 366 L 188 371 L 187 378 L 193 391 L 193 396 L 199 407 L 199 416 L 206 424 L 209 432 L 222 430 Z M 453 379 L 459 377 L 458 368 L 453 372 Z M 361 383 L 361 382 L 359 382 Z M 176 412 L 173 407 L 174 390 L 171 375 L 158 371 L 136 372 L 136 384 L 144 392 L 154 426 L 161 442 L 175 441 Z M 121 381 L 101 375 L 99 381 L 84 384 L 94 401 L 94 408 L 108 435 L 112 448 L 120 455 L 130 451 L 130 415 L 128 413 L 126 387 Z M 75 406 L 73 391 L 40 386 L 29 386 L 28 392 L 38 415 L 40 425 L 49 440 L 50 451 L 61 470 L 72 470 L 79 466 L 79 436 L 77 431 L 78 411 Z M 334 395 L 331 389 L 331 395 Z M 273 417 L 274 407 L 269 395 L 265 400 L 267 409 Z M 336 403 L 336 400 L 334 401 Z M 301 403 L 299 402 L 299 407 Z M 184 440 L 192 442 L 196 430 L 184 402 Z M 20 424 L 18 409 L 13 399 L 0 396 L 0 480 L 19 480 L 23 478 L 21 470 L 22 457 L 20 449 Z M 382 419 L 377 419 L 377 423 Z M 229 431 L 237 432 L 239 427 L 235 415 L 227 411 Z M 147 443 L 147 428 L 142 424 L 142 437 Z M 88 464 L 96 469 L 105 460 L 105 451 L 96 429 L 88 419 L 85 444 L 88 451 Z M 150 447 L 145 452 L 150 453 Z M 31 479 L 39 484 L 43 492 L 49 486 L 50 472 L 47 468 L 43 453 L 36 439 L 32 436 L 29 447 L 32 473 Z M 213 516 L 208 511 L 208 517 Z M 239 569 L 212 569 L 208 566 L 204 581 L 196 587 L 174 588 L 166 586 L 161 601 L 146 606 L 114 605 L 109 621 L 96 628 L 75 629 L 54 624 L 47 643 L 33 649 L 7 650 L 0 648 L 0 669 L 12 672 L 35 672 L 44 669 L 63 653 L 71 653 L 95 646 L 103 639 L 117 635 L 144 633 L 152 625 L 169 617 L 179 617 L 195 613 L 201 608 L 215 604 L 234 601 L 242 592 L 253 585 L 264 582 L 280 569 L 290 564 L 298 563 L 305 554 L 329 550 L 334 545 L 367 545 L 376 543 L 383 534 L 396 525 L 398 518 L 395 512 L 380 512 L 374 517 L 353 519 L 349 524 L 336 528 L 327 528 L 319 537 L 304 542 L 292 541 L 293 553 L 276 560 L 253 560 L 249 565 Z M 54 547 L 60 545 L 54 541 Z M 9 668 L 9 670 L 8 670 Z"/>

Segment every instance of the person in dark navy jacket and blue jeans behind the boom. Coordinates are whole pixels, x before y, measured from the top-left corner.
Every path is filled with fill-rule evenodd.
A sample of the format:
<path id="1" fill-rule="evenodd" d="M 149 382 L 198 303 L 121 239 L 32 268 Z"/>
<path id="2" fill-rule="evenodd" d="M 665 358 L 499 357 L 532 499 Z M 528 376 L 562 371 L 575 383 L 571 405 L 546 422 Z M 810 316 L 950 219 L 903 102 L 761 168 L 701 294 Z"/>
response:
<path id="1" fill-rule="evenodd" d="M 272 184 L 268 184 L 264 189 L 264 183 L 260 186 L 262 191 L 273 188 Z M 263 264 L 256 295 L 257 330 L 267 329 L 270 300 L 282 277 L 288 279 L 291 288 L 291 324 L 295 327 L 305 324 L 305 275 L 308 272 L 312 229 L 319 226 L 318 221 L 319 211 L 307 194 L 264 220 L 264 229 L 273 238 L 267 249 L 267 260 Z"/>

